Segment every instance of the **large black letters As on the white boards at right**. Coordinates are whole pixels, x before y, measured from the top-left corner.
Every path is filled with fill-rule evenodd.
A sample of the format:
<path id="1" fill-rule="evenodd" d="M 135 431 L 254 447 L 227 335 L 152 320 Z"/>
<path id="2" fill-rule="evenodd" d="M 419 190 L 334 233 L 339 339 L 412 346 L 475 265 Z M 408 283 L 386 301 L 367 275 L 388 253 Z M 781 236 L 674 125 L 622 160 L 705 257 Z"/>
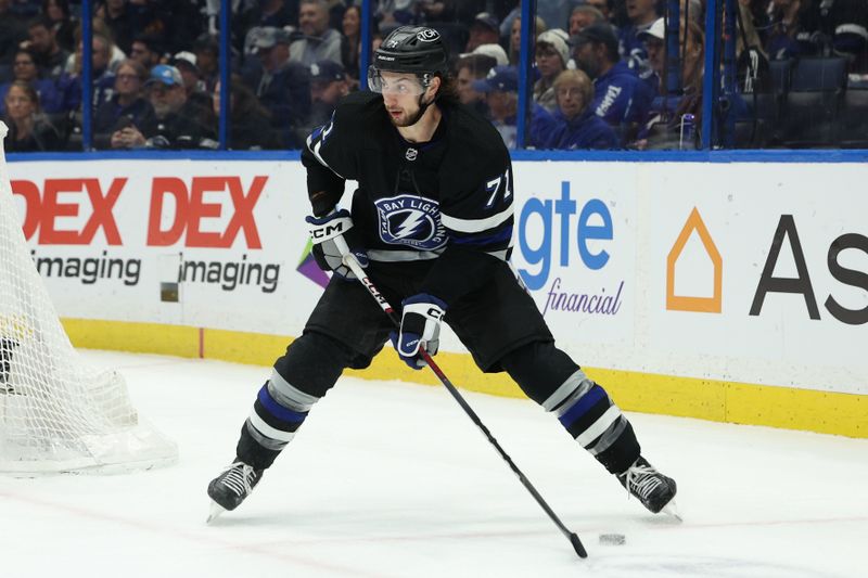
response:
<path id="1" fill-rule="evenodd" d="M 790 249 L 795 261 L 795 278 L 774 277 L 775 266 L 780 257 L 784 237 L 790 244 Z M 845 285 L 859 287 L 868 293 L 868 273 L 856 269 L 850 269 L 841 265 L 840 256 L 845 251 L 860 251 L 868 255 L 868 237 L 857 233 L 845 233 L 829 245 L 826 264 L 831 275 Z M 771 247 L 768 252 L 766 265 L 756 286 L 756 293 L 751 305 L 751 314 L 758 316 L 763 309 L 763 303 L 769 293 L 794 293 L 801 294 L 805 299 L 808 317 L 820 319 L 820 311 L 817 307 L 817 298 L 814 295 L 814 285 L 810 282 L 805 254 L 802 251 L 802 243 L 799 240 L 799 231 L 795 228 L 795 220 L 792 215 L 782 215 L 775 230 L 771 240 Z M 829 295 L 824 303 L 826 310 L 833 318 L 850 325 L 861 325 L 868 323 L 868 305 L 861 309 L 848 309 L 841 305 L 832 295 Z"/>

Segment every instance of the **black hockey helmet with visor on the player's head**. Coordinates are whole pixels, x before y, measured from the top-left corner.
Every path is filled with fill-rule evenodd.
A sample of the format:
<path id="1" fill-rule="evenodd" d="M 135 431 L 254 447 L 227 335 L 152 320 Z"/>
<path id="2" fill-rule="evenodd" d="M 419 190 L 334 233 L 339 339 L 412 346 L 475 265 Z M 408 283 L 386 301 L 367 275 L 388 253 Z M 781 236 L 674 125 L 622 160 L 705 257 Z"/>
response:
<path id="1" fill-rule="evenodd" d="M 441 34 L 427 26 L 400 26 L 385 37 L 368 68 L 368 86 L 379 92 L 380 73 L 413 73 L 423 86 L 432 76 L 446 77 L 449 52 Z"/>

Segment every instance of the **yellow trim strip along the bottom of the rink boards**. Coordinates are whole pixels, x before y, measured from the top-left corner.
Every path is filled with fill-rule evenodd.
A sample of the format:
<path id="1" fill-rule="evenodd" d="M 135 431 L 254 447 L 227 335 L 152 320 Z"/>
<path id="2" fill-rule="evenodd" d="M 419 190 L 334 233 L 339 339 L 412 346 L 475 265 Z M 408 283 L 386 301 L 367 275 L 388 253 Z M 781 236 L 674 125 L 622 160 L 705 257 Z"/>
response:
<path id="1" fill-rule="evenodd" d="M 271 365 L 292 342 L 292 337 L 279 335 L 161 323 L 62 321 L 76 347 L 201 357 L 266 367 Z M 442 352 L 437 360 L 449 380 L 462 389 L 524 397 L 506 374 L 481 373 L 467 354 Z M 612 398 L 627 411 L 868 438 L 868 396 L 635 371 L 595 368 L 585 368 L 585 371 L 605 384 Z M 379 355 L 370 368 L 347 374 L 368 380 L 439 385 L 432 372 L 410 370 L 391 350 Z"/>

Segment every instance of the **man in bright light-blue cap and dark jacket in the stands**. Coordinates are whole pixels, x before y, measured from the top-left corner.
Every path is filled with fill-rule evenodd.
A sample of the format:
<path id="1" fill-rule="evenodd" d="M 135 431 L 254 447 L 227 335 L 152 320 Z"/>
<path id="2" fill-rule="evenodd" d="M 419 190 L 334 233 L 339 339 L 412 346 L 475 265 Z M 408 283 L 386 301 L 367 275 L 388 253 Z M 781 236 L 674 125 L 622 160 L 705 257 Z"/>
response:
<path id="1" fill-rule="evenodd" d="M 148 98 L 156 119 L 151 130 L 131 127 L 130 146 L 153 149 L 212 147 L 216 133 L 197 118 L 199 107 L 187 99 L 187 90 L 178 68 L 158 64 L 145 82 Z"/>

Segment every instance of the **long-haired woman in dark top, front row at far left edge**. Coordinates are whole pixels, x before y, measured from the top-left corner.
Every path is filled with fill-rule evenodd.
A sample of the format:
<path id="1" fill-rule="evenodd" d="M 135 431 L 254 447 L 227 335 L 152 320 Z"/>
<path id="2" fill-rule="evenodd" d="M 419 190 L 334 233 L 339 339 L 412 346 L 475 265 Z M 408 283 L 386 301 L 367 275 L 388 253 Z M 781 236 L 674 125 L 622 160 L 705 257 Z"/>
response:
<path id="1" fill-rule="evenodd" d="M 39 108 L 36 90 L 23 80 L 15 80 L 7 92 L 5 114 L 9 126 L 5 150 L 10 153 L 56 151 L 60 137 Z"/>

